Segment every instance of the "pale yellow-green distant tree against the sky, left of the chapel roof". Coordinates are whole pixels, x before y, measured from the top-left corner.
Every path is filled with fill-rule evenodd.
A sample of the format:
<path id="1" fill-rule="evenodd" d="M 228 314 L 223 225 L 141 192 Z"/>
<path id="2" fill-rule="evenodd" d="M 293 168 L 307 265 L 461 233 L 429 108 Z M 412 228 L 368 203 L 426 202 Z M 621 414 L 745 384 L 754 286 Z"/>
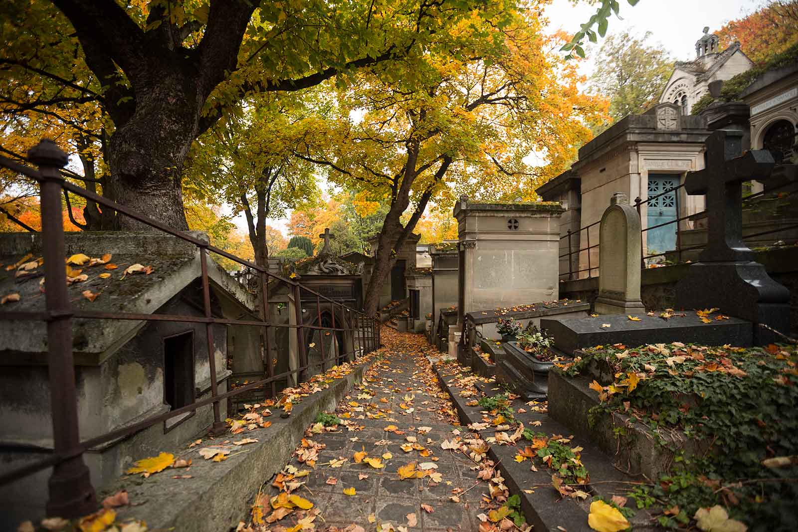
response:
<path id="1" fill-rule="evenodd" d="M 648 44 L 650 36 L 614 33 L 602 43 L 590 83 L 610 99 L 610 124 L 656 103 L 673 72 L 674 60 L 662 45 Z"/>

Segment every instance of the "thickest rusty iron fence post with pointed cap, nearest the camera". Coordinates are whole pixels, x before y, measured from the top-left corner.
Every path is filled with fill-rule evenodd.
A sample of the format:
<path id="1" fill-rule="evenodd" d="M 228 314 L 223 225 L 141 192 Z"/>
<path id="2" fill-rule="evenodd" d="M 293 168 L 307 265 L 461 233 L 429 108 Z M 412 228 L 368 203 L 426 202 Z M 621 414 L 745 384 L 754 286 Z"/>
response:
<path id="1" fill-rule="evenodd" d="M 61 215 L 60 168 L 69 158 L 49 139 L 28 152 L 41 174 L 41 254 L 45 266 L 50 412 L 53 418 L 53 450 L 58 456 L 73 455 L 53 466 L 49 478 L 47 514 L 77 518 L 97 510 L 89 467 L 79 452 L 81 437 L 77 417 L 75 365 L 72 355 L 72 313 L 66 290 L 64 224 Z"/>

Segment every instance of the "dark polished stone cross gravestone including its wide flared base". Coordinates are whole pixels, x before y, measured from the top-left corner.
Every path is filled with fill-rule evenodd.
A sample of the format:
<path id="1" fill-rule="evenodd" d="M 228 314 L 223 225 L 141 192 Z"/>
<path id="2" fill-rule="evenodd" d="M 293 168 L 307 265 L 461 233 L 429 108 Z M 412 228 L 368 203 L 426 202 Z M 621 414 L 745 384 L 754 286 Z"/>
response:
<path id="1" fill-rule="evenodd" d="M 698 262 L 689 266 L 676 286 L 676 305 L 684 309 L 717 307 L 721 312 L 754 324 L 757 345 L 779 337 L 760 327 L 781 333 L 789 330 L 790 294 L 770 278 L 764 266 L 753 260 L 753 251 L 742 239 L 742 183 L 767 182 L 775 162 L 767 150 L 742 152 L 743 133 L 720 129 L 706 141 L 707 165 L 689 172 L 685 190 L 706 194 L 709 238 Z"/>

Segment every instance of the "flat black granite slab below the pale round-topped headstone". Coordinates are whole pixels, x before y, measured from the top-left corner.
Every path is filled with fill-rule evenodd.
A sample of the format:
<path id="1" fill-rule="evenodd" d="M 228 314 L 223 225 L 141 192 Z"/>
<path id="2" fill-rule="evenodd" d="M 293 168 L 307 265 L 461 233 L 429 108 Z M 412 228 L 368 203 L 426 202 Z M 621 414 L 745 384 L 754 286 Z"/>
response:
<path id="1" fill-rule="evenodd" d="M 640 321 L 631 321 L 626 315 L 605 314 L 598 317 L 570 317 L 540 320 L 540 329 L 555 338 L 555 347 L 563 353 L 595 345 L 625 344 L 637 347 L 644 344 L 660 344 L 671 341 L 702 345 L 735 345 L 750 347 L 753 342 L 753 324 L 737 317 L 703 323 L 694 312 L 684 317 L 674 316 L 668 320 L 661 317 L 638 316 Z M 602 325 L 610 325 L 602 327 Z"/>

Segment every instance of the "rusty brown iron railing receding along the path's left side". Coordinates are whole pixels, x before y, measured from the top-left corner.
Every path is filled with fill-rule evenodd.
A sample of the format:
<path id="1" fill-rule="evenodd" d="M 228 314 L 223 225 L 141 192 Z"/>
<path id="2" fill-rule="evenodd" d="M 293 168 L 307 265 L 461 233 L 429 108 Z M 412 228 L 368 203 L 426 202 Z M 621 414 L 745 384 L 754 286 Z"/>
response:
<path id="1" fill-rule="evenodd" d="M 65 518 L 73 518 L 89 514 L 97 509 L 97 501 L 94 488 L 89 479 L 89 469 L 83 461 L 83 453 L 92 447 L 102 443 L 108 443 L 114 439 L 128 435 L 133 435 L 140 430 L 151 427 L 154 424 L 163 422 L 175 416 L 180 416 L 187 412 L 195 412 L 197 408 L 212 405 L 213 423 L 212 432 L 226 430 L 227 425 L 220 419 L 219 404 L 222 400 L 237 396 L 244 392 L 263 388 L 264 399 L 268 396 L 276 396 L 276 384 L 279 380 L 294 376 L 296 382 L 307 380 L 307 372 L 315 366 L 325 367 L 326 364 L 335 362 L 341 363 L 350 355 L 354 358 L 365 353 L 370 353 L 379 346 L 379 323 L 373 317 L 366 316 L 359 310 L 352 309 L 340 301 L 327 298 L 318 292 L 291 279 L 282 278 L 279 275 L 267 271 L 267 267 L 258 266 L 255 263 L 236 257 L 234 254 L 227 253 L 207 242 L 176 231 L 164 223 L 140 215 L 128 208 L 114 203 L 109 199 L 69 183 L 61 175 L 61 168 L 67 164 L 67 155 L 62 152 L 51 140 L 42 140 L 29 152 L 29 160 L 38 165 L 38 170 L 19 164 L 14 160 L 0 156 L 0 167 L 5 167 L 15 173 L 25 175 L 34 179 L 40 185 L 41 195 L 41 251 L 45 270 L 45 310 L 44 311 L 14 311 L 2 309 L 0 321 L 45 321 L 47 324 L 47 349 L 48 349 L 48 372 L 49 390 L 51 397 L 51 416 L 53 420 L 53 452 L 45 459 L 27 463 L 25 466 L 14 468 L 0 475 L 0 485 L 14 482 L 27 475 L 32 475 L 48 467 L 53 467 L 53 473 L 49 478 L 49 501 L 47 502 L 47 514 L 57 515 Z M 108 208 L 117 212 L 117 215 L 124 215 L 131 219 L 152 227 L 157 231 L 171 234 L 180 238 L 184 242 L 190 242 L 199 250 L 200 275 L 202 279 L 203 291 L 203 315 L 188 314 L 156 314 L 156 313 L 127 313 L 127 312 L 93 312 L 89 310 L 73 309 L 69 303 L 67 292 L 66 273 L 65 273 L 65 234 L 62 218 L 61 195 L 69 200 L 69 194 L 81 196 L 89 201 L 97 203 L 102 208 Z M 214 253 L 227 258 L 239 265 L 246 266 L 253 275 L 259 280 L 260 301 L 259 309 L 261 319 L 241 320 L 213 317 L 211 315 L 211 290 L 208 282 L 208 254 Z M 290 292 L 294 300 L 295 321 L 294 324 L 278 324 L 269 321 L 270 302 L 269 292 L 275 287 L 285 287 Z M 304 296 L 304 298 L 303 298 Z M 302 318 L 302 300 L 310 297 L 311 301 L 315 296 L 317 309 L 318 325 L 306 325 Z M 332 325 L 322 326 L 322 301 L 325 305 L 334 310 L 338 310 L 340 317 L 344 317 L 344 323 L 335 323 L 336 312 L 332 314 Z M 256 311 L 256 312 L 257 312 Z M 91 439 L 81 441 L 79 434 L 79 419 L 77 414 L 77 394 L 75 386 L 75 369 L 73 360 L 73 319 L 96 319 L 96 320 L 133 320 L 133 321 L 173 321 L 184 323 L 205 324 L 208 365 L 211 375 L 211 396 L 202 400 L 195 400 L 182 408 L 175 408 L 158 416 L 152 416 L 145 420 L 140 420 L 135 424 L 130 424 L 123 428 L 117 428 L 111 432 L 97 435 Z M 247 327 L 257 327 L 262 329 L 263 348 L 266 356 L 266 378 L 255 380 L 240 388 L 231 389 L 228 392 L 220 393 L 218 389 L 218 373 L 216 372 L 215 349 L 213 329 L 211 325 L 243 325 Z M 296 331 L 296 341 L 298 346 L 298 367 L 279 375 L 274 373 L 274 365 L 271 357 L 271 345 L 269 331 L 274 328 L 288 328 Z M 306 352 L 306 331 L 319 331 L 337 334 L 339 331 L 351 335 L 351 352 L 338 352 L 326 357 L 324 341 L 321 345 L 321 361 L 309 362 Z M 311 333 L 314 334 L 314 333 Z M 346 344 L 345 344 L 346 346 Z M 344 349 L 345 350 L 345 349 Z M 192 353 L 193 356 L 193 353 Z M 286 353 L 287 356 L 287 353 Z M 196 399 L 196 398 L 195 398 Z"/>

